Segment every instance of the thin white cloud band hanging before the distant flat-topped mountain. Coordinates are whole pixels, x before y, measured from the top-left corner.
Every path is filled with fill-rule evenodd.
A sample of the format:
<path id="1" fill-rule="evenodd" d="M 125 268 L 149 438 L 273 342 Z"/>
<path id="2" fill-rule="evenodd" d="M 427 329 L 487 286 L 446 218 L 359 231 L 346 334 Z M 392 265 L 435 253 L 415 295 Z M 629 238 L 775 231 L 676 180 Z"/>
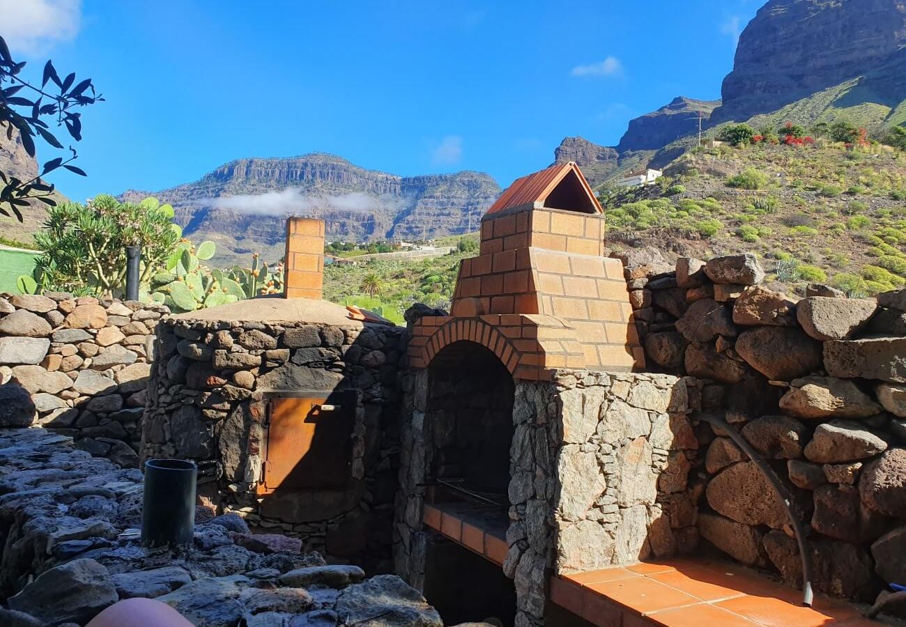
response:
<path id="1" fill-rule="evenodd" d="M 361 192 L 335 196 L 305 194 L 300 188 L 285 188 L 264 194 L 239 194 L 224 198 L 202 198 L 198 204 L 236 213 L 263 216 L 322 216 L 325 211 L 371 211 L 386 206 L 382 200 Z"/>

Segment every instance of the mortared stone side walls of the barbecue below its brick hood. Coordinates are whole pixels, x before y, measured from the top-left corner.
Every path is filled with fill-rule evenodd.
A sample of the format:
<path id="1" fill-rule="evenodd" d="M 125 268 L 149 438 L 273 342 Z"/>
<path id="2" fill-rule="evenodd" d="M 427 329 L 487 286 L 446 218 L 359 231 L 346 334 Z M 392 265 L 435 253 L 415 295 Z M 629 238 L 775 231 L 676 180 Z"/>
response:
<path id="1" fill-rule="evenodd" d="M 431 405 L 438 392 L 428 370 L 404 381 L 394 557 L 396 572 L 421 589 L 431 533 L 422 525 L 425 484 L 444 417 Z M 686 413 L 685 381 L 669 375 L 557 371 L 554 381 L 516 381 L 503 564 L 516 587 L 516 625 L 544 624 L 552 571 L 696 545 L 687 479 L 698 440 Z"/>

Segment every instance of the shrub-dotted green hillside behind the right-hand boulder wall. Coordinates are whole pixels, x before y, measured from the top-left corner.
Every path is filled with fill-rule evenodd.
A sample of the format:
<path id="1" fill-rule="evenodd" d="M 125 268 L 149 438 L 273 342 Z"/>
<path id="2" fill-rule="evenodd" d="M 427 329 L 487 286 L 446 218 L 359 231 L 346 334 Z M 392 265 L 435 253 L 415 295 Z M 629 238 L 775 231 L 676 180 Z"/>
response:
<path id="1" fill-rule="evenodd" d="M 695 149 L 660 183 L 604 198 L 611 246 L 701 258 L 755 251 L 791 287 L 830 280 L 872 293 L 906 282 L 901 151 Z"/>

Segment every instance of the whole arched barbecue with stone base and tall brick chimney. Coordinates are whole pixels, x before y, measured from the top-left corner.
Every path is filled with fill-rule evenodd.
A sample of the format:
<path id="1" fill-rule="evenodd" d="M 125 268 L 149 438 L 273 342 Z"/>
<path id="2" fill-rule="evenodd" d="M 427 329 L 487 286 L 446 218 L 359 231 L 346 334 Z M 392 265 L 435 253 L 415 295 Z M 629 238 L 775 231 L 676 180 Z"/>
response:
<path id="1" fill-rule="evenodd" d="M 394 557 L 448 621 L 569 624 L 551 614 L 551 573 L 689 544 L 659 483 L 697 447 L 685 387 L 636 373 L 603 237 L 575 163 L 519 178 L 482 218 L 450 314 L 411 326 Z"/>

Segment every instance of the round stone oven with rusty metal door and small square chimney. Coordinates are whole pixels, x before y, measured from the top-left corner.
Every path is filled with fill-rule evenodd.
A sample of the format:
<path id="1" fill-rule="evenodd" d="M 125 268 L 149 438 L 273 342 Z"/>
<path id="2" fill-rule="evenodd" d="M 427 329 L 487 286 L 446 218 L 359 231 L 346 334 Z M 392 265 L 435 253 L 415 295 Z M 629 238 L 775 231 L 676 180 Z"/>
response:
<path id="1" fill-rule="evenodd" d="M 157 328 L 143 457 L 198 462 L 209 506 L 390 569 L 405 330 L 322 299 L 324 223 L 286 224 L 285 294 Z"/>

